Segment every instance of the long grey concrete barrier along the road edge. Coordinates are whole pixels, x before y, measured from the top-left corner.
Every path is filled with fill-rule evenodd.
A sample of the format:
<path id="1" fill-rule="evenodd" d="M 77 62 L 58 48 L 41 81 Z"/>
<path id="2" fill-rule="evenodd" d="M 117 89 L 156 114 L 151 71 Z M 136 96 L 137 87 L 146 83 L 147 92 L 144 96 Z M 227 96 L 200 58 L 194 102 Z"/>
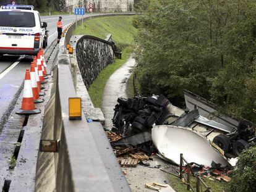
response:
<path id="1" fill-rule="evenodd" d="M 35 191 L 130 191 L 101 123 L 87 123 L 84 114 L 82 120 L 69 120 L 68 99 L 77 97 L 77 83 L 66 44 L 74 28 L 75 23 L 59 43 L 58 68 L 41 135 L 41 139 L 60 140 L 60 148 L 55 154 L 40 152 Z"/>

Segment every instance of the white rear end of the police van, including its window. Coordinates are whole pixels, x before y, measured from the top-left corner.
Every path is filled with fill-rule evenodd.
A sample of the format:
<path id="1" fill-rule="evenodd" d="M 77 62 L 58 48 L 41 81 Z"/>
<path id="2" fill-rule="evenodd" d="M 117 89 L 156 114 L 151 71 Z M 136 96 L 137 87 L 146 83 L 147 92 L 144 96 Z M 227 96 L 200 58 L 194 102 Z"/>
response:
<path id="1" fill-rule="evenodd" d="M 0 49 L 33 50 L 36 21 L 33 12 L 0 11 Z"/>

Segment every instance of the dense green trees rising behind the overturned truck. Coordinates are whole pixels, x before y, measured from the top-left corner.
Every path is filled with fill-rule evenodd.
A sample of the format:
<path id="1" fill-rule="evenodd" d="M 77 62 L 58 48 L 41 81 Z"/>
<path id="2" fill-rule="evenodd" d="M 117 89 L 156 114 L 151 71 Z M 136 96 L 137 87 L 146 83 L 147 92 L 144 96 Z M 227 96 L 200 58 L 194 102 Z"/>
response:
<path id="1" fill-rule="evenodd" d="M 141 0 L 142 93 L 184 106 L 183 90 L 256 122 L 256 1 Z"/>

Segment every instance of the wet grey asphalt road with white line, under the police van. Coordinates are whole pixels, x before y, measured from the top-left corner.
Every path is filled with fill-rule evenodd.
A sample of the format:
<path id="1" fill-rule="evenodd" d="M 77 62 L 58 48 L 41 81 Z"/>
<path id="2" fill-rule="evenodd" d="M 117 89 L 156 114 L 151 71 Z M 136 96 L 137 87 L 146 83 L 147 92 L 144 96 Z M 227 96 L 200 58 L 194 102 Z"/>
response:
<path id="1" fill-rule="evenodd" d="M 49 30 L 48 47 L 56 40 L 58 33 L 56 23 L 58 16 L 43 16 L 41 22 L 48 23 Z M 78 17 L 79 19 L 79 17 Z M 64 28 L 75 20 L 74 15 L 62 15 L 62 24 Z M 46 47 L 46 49 L 48 48 Z M 25 77 L 25 70 L 30 68 L 32 57 L 20 56 L 2 56 L 0 57 L 0 124 L 2 118 L 11 112 L 14 100 L 20 91 Z M 0 126 L 1 133 L 1 126 Z"/>

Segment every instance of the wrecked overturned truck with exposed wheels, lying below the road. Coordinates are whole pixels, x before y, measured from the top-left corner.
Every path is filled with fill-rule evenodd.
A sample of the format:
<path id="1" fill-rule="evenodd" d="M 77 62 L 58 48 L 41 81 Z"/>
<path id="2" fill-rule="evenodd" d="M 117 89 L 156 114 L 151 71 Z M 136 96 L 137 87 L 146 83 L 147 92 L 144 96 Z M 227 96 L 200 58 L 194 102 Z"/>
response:
<path id="1" fill-rule="evenodd" d="M 185 98 L 185 110 L 173 106 L 163 95 L 118 98 L 113 131 L 124 138 L 116 144 L 140 146 L 148 154 L 155 147 L 161 157 L 176 164 L 177 152 L 185 151 L 192 157 L 194 151 L 196 158 L 191 161 L 207 165 L 218 161 L 225 166 L 228 159 L 239 156 L 254 143 L 255 128 L 251 122 L 217 115 L 213 105 L 189 91 L 185 91 Z M 208 152 L 203 155 L 203 151 Z M 209 151 L 213 155 L 207 155 Z"/>

